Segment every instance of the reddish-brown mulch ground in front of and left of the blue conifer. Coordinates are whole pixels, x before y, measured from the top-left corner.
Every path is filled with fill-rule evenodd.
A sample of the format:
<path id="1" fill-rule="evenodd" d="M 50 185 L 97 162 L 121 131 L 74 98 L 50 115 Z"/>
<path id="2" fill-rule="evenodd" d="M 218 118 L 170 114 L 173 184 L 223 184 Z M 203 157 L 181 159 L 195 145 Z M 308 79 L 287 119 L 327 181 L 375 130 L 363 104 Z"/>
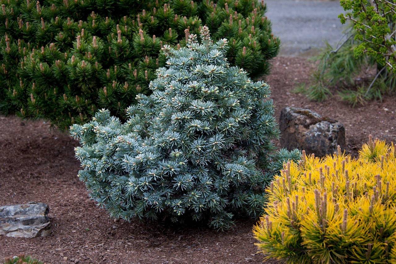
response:
<path id="1" fill-rule="evenodd" d="M 114 222 L 88 199 L 76 176 L 79 163 L 73 149 L 77 145 L 43 122 L 0 117 L 0 205 L 47 203 L 53 231 L 49 237 L 34 239 L 1 236 L 0 260 L 25 253 L 47 263 L 262 261 L 251 233 L 253 220 L 239 222 L 227 233 Z"/>

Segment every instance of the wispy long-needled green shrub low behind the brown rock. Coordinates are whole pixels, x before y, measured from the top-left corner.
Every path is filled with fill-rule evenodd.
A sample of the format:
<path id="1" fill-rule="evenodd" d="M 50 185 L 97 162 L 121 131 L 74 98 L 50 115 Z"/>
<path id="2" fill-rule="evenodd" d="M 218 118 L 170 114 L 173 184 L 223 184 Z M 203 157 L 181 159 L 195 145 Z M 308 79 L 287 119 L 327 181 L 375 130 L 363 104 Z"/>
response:
<path id="1" fill-rule="evenodd" d="M 336 91 L 352 106 L 382 100 L 384 95 L 393 94 L 396 75 L 367 54 L 356 56 L 354 50 L 362 42 L 355 40 L 355 35 L 355 31 L 349 30 L 344 35 L 345 40 L 336 47 L 327 44 L 315 57 L 319 62 L 318 69 L 312 74 L 310 85 L 303 85 L 295 92 L 306 94 L 310 100 L 324 101 Z"/>

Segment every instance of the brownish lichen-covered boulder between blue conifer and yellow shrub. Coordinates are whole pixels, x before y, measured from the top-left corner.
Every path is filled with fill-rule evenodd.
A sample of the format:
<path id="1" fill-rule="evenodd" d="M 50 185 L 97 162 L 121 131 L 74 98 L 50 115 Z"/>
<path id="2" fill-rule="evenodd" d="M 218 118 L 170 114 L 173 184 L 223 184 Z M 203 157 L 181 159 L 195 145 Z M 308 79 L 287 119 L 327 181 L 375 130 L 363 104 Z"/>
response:
<path id="1" fill-rule="evenodd" d="M 323 157 L 345 148 L 343 124 L 321 117 L 309 109 L 285 107 L 280 113 L 280 143 L 287 149 L 304 149 L 307 154 Z"/>

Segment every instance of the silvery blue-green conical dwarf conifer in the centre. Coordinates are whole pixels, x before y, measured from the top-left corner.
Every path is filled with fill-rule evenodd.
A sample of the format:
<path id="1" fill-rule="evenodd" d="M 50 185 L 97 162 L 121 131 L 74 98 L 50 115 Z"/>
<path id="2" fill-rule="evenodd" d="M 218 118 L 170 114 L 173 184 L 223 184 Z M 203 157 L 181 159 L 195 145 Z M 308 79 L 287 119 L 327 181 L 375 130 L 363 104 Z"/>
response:
<path id="1" fill-rule="evenodd" d="M 137 96 L 122 124 L 99 111 L 70 134 L 80 139 L 78 173 L 90 196 L 114 218 L 195 220 L 229 229 L 234 216 L 259 216 L 264 189 L 279 169 L 270 88 L 252 82 L 225 58 L 227 40 L 165 46 L 168 67 L 157 70 L 152 94 Z"/>

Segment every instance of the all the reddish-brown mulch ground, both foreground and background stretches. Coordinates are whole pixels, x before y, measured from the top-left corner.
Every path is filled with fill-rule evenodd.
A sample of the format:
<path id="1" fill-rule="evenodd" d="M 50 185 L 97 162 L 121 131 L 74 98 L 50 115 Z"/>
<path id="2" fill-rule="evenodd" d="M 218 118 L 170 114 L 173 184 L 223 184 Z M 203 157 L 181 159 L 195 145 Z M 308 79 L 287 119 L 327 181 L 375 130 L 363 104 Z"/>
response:
<path id="1" fill-rule="evenodd" d="M 307 82 L 312 63 L 279 57 L 268 82 L 277 106 L 307 107 L 344 123 L 347 151 L 366 141 L 369 133 L 396 139 L 396 97 L 351 108 L 337 98 L 324 103 L 293 94 Z M 386 110 L 385 110 L 386 109 Z M 49 205 L 53 233 L 35 239 L 0 238 L 0 259 L 19 253 L 47 263 L 260 263 L 251 229 L 254 220 L 239 221 L 234 230 L 217 233 L 190 226 L 175 229 L 139 222 L 114 222 L 88 199 L 76 177 L 77 142 L 49 130 L 42 121 L 0 117 L 0 205 L 37 201 Z M 266 263 L 276 263 L 269 261 Z"/>

